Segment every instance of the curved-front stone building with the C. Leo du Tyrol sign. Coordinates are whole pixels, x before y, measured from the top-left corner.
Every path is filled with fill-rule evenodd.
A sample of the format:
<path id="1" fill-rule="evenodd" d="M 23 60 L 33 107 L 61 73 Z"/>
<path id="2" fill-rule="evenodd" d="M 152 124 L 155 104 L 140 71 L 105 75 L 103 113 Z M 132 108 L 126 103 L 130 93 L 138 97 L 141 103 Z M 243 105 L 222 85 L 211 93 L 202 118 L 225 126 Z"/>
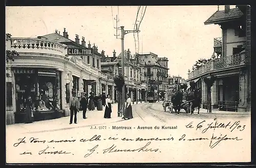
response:
<path id="1" fill-rule="evenodd" d="M 114 93 L 113 75 L 101 72 L 97 47 L 90 42 L 87 47 L 84 38 L 80 44 L 78 35 L 75 41 L 68 37 L 64 29 L 63 36 L 56 31 L 38 38 L 6 39 L 6 50 L 19 53 L 6 64 L 10 75 L 6 77 L 7 124 L 24 122 L 28 96 L 38 121 L 69 116 L 72 93 L 78 98 L 83 92 L 99 94 L 101 81 L 110 83 L 109 92 Z"/>

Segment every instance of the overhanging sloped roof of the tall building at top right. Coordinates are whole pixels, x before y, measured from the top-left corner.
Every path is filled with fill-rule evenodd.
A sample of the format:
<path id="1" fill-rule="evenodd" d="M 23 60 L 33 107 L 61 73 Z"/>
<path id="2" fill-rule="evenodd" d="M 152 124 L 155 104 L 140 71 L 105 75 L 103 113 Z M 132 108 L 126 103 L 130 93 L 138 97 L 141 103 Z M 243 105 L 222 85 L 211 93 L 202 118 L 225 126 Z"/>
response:
<path id="1" fill-rule="evenodd" d="M 224 10 L 216 11 L 204 22 L 204 24 L 218 24 L 220 22 L 225 22 L 230 19 L 240 18 L 242 15 L 243 12 L 239 8 L 230 9 L 228 13 L 225 13 Z"/>

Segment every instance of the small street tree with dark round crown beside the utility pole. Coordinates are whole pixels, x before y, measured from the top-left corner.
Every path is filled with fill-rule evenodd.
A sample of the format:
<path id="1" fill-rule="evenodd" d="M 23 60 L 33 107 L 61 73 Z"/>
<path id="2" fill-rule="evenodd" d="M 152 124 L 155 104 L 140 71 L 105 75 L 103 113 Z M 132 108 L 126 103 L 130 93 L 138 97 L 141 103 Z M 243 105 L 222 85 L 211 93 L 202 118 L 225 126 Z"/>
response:
<path id="1" fill-rule="evenodd" d="M 116 84 L 117 92 L 118 92 L 118 117 L 121 117 L 121 110 L 122 110 L 122 88 L 124 86 L 124 77 L 119 74 L 114 77 L 114 82 Z M 124 104 L 123 104 L 124 105 Z"/>

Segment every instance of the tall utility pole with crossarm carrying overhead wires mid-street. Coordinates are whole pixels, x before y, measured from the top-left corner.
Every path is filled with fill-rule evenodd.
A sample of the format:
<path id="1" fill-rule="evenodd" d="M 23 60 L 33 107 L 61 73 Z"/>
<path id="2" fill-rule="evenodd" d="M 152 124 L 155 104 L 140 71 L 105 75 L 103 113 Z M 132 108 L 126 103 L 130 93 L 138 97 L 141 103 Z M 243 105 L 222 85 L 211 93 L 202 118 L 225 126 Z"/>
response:
<path id="1" fill-rule="evenodd" d="M 140 32 L 139 30 L 136 31 L 124 31 L 124 26 L 120 26 L 121 27 L 121 50 L 122 50 L 122 76 L 124 77 L 124 35 L 128 34 L 128 33 L 134 33 L 134 32 Z M 128 72 L 129 73 L 129 72 Z M 122 113 L 124 112 L 124 104 L 125 104 L 125 90 L 124 90 L 124 86 L 122 88 Z"/>

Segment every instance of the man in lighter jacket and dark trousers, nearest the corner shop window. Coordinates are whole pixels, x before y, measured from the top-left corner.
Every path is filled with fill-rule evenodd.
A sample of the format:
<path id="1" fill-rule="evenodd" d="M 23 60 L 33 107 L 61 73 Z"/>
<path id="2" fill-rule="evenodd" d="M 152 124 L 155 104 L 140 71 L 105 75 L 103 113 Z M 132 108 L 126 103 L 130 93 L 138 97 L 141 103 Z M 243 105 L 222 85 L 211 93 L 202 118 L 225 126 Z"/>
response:
<path id="1" fill-rule="evenodd" d="M 69 109 L 70 109 L 70 123 L 73 122 L 73 115 L 75 115 L 74 123 L 77 124 L 77 111 L 79 110 L 79 100 L 76 97 L 76 93 L 73 93 L 73 97 L 69 100 Z"/>

